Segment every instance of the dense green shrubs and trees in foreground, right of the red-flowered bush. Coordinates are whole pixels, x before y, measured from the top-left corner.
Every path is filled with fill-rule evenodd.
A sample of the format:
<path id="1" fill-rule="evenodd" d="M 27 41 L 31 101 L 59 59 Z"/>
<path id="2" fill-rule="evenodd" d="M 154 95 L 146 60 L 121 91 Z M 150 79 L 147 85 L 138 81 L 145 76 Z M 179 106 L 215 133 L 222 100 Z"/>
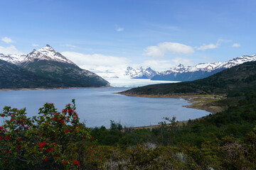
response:
<path id="1" fill-rule="evenodd" d="M 137 146 L 125 151 L 132 153 L 122 161 L 131 164 L 135 156 L 146 159 L 148 162 L 132 162 L 140 169 L 255 169 L 256 89 L 243 92 L 233 98 L 236 102 L 218 101 L 229 105 L 226 111 L 187 124 L 178 125 L 175 118 L 165 118 L 171 124 L 162 122 L 159 128 L 121 131 L 118 123 L 111 122 L 110 130 L 93 128 L 92 135 L 98 145 Z M 143 148 L 140 154 L 139 148 Z"/>

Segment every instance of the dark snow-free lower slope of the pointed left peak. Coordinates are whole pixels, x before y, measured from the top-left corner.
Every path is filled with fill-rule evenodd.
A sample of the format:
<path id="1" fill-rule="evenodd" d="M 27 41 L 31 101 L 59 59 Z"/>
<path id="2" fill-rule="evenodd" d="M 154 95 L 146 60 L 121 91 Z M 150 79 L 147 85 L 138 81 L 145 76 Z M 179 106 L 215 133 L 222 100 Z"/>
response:
<path id="1" fill-rule="evenodd" d="M 49 60 L 34 60 L 33 62 L 21 64 L 21 67 L 46 79 L 59 81 L 72 87 L 108 85 L 105 79 L 85 69 L 80 69 L 75 64 Z"/>

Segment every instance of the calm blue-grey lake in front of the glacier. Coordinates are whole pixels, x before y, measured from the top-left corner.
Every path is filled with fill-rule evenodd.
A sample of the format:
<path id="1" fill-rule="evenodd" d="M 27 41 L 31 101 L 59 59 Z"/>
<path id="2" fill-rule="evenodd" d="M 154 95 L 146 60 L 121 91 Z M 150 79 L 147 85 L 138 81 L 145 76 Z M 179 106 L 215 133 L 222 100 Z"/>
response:
<path id="1" fill-rule="evenodd" d="M 54 103 L 58 111 L 75 98 L 80 120 L 87 127 L 105 125 L 110 120 L 127 126 L 157 125 L 163 117 L 176 116 L 177 120 L 200 118 L 209 113 L 192 108 L 179 98 L 138 98 L 113 94 L 128 88 L 60 89 L 34 91 L 0 91 L 0 108 L 26 108 L 28 116 L 37 115 L 44 103 Z"/>

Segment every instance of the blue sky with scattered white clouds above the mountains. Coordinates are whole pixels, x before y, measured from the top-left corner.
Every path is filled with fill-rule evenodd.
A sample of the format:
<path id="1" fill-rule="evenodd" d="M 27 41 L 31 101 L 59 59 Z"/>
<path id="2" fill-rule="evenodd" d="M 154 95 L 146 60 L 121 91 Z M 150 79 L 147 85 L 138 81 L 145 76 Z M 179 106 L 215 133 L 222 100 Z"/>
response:
<path id="1" fill-rule="evenodd" d="M 0 52 L 46 44 L 85 69 L 254 55 L 255 0 L 1 0 Z M 93 68 L 95 67 L 95 68 Z"/>

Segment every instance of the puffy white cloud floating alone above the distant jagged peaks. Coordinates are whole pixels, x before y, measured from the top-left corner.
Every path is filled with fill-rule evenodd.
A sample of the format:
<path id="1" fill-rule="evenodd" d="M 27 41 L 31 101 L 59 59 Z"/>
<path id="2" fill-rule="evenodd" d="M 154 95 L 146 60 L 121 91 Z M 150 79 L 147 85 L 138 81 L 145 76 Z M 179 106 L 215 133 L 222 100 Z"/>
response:
<path id="1" fill-rule="evenodd" d="M 192 55 L 194 50 L 193 47 L 178 42 L 162 42 L 156 46 L 146 47 L 143 55 L 159 58 L 164 57 L 166 52 L 178 55 Z"/>

